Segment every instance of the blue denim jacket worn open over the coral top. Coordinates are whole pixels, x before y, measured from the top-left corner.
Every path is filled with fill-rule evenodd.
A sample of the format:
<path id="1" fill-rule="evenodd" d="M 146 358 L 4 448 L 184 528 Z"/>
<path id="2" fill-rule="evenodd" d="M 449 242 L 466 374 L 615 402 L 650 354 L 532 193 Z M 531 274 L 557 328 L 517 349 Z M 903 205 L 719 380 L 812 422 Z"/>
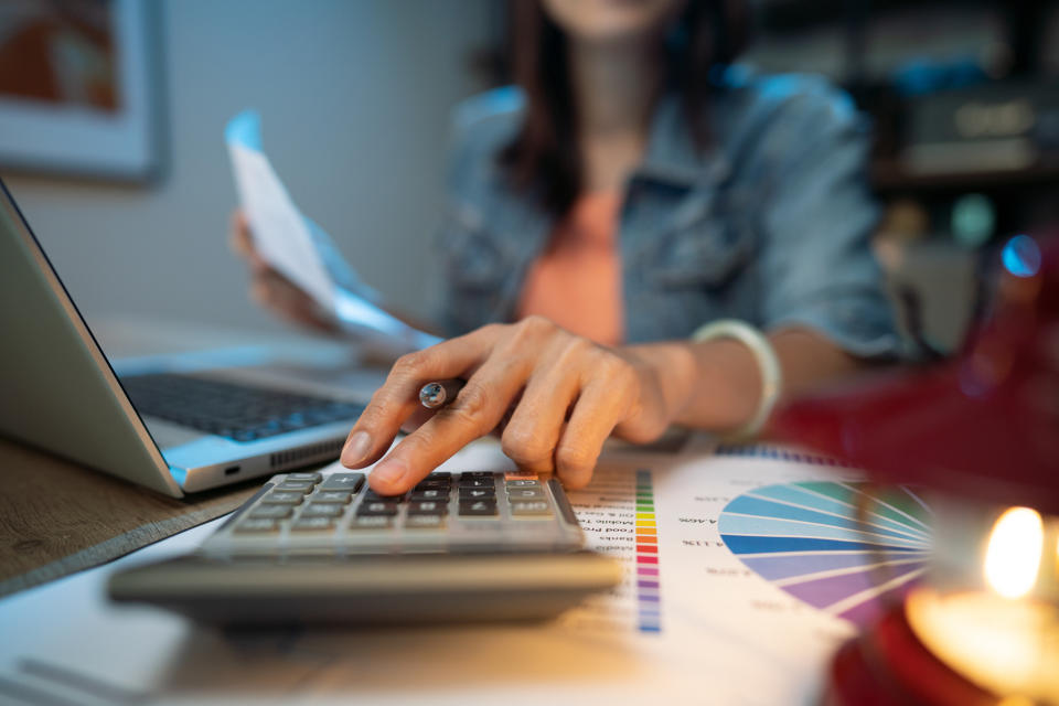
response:
<path id="1" fill-rule="evenodd" d="M 821 78 L 736 78 L 695 149 L 675 96 L 653 116 L 618 225 L 625 338 L 683 339 L 736 318 L 764 330 L 807 327 L 858 356 L 897 353 L 889 301 L 868 245 L 869 138 L 847 96 Z M 500 88 L 456 113 L 439 321 L 449 334 L 511 321 L 555 220 L 513 188 L 498 153 L 524 98 Z"/>

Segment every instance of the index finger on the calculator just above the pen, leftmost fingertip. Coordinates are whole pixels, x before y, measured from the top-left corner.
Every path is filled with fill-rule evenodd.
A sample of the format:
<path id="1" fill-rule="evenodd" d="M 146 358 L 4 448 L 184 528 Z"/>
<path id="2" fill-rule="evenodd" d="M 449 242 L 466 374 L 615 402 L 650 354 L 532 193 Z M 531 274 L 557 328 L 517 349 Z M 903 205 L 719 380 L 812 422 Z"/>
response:
<path id="1" fill-rule="evenodd" d="M 399 357 L 353 425 L 342 450 L 342 463 L 364 468 L 377 461 L 400 426 L 422 408 L 419 389 L 431 381 L 467 377 L 489 356 L 496 335 L 494 327 L 484 327 Z"/>

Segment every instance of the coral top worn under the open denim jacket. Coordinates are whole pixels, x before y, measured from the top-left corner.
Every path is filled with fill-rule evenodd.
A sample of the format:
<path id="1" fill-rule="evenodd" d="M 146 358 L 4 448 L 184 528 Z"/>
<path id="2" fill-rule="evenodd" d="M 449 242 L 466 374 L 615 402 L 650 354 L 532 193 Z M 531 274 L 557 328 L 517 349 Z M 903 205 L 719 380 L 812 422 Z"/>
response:
<path id="1" fill-rule="evenodd" d="M 624 339 L 620 191 L 585 194 L 552 232 L 523 285 L 518 318 L 539 314 L 564 329 L 613 345 Z"/>

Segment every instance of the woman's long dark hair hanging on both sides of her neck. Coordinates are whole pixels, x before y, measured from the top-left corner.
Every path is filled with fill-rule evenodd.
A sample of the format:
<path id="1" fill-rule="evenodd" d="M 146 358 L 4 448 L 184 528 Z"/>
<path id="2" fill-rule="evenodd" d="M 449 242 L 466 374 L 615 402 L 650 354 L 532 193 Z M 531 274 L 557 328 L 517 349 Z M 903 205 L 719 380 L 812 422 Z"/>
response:
<path id="1" fill-rule="evenodd" d="M 666 36 L 662 86 L 680 96 L 699 150 L 709 140 L 710 72 L 739 55 L 748 25 L 745 0 L 687 0 Z M 560 216 L 577 199 L 584 172 L 566 38 L 541 0 L 512 0 L 511 29 L 512 73 L 525 94 L 526 115 L 500 162 L 517 188 L 532 191 L 548 212 Z"/>

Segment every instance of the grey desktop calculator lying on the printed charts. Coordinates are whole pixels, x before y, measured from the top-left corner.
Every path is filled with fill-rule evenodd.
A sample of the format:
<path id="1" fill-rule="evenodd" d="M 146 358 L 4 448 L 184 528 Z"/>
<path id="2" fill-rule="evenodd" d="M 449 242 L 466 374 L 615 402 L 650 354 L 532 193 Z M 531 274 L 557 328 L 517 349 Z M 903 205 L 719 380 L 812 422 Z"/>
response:
<path id="1" fill-rule="evenodd" d="M 544 619 L 621 579 L 554 478 L 442 471 L 379 495 L 364 473 L 298 472 L 108 591 L 213 623 L 377 624 Z"/>

